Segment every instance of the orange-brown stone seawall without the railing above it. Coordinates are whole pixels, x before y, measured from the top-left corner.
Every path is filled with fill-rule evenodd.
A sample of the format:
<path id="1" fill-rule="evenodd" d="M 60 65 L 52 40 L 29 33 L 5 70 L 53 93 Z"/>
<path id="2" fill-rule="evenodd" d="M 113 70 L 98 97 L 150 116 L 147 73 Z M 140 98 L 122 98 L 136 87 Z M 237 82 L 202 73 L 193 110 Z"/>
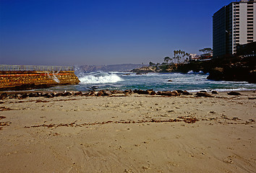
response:
<path id="1" fill-rule="evenodd" d="M 46 88 L 78 84 L 74 71 L 0 71 L 0 90 Z"/>

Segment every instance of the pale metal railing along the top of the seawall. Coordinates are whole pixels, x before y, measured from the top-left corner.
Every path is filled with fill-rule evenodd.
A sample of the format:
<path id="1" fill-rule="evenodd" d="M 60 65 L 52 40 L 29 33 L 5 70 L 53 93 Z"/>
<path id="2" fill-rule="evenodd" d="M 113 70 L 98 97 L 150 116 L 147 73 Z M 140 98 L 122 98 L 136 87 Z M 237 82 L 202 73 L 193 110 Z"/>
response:
<path id="1" fill-rule="evenodd" d="M 0 65 L 0 71 L 74 71 L 74 66 Z"/>

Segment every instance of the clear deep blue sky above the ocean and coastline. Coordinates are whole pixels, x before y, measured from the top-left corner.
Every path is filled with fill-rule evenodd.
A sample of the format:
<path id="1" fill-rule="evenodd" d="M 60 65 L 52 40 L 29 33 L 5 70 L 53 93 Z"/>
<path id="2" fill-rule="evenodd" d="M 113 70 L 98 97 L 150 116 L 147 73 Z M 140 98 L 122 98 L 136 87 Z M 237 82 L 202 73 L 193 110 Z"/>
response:
<path id="1" fill-rule="evenodd" d="M 229 0 L 0 0 L 0 64 L 162 63 L 212 48 Z"/>

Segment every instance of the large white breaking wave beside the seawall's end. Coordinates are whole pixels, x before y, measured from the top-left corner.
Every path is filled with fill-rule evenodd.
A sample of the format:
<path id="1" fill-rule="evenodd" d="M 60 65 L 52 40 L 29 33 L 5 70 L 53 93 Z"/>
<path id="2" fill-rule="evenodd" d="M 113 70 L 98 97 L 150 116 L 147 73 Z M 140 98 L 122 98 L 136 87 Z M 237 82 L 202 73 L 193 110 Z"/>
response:
<path id="1" fill-rule="evenodd" d="M 123 79 L 121 79 L 117 74 L 104 72 L 86 74 L 84 76 L 80 76 L 79 80 L 81 81 L 81 84 L 106 84 L 123 81 Z"/>

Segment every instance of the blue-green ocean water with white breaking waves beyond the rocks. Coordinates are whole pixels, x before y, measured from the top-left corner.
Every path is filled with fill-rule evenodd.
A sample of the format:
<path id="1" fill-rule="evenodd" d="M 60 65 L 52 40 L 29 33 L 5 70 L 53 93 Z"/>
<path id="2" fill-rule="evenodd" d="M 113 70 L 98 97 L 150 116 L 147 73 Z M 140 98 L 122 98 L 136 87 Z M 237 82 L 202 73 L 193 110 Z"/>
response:
<path id="1" fill-rule="evenodd" d="M 127 75 L 129 74 L 129 75 Z M 246 81 L 212 81 L 208 80 L 208 74 L 194 73 L 189 71 L 187 74 L 168 73 L 168 74 L 132 74 L 124 72 L 92 72 L 77 73 L 80 84 L 54 86 L 48 91 L 90 91 L 90 90 L 125 90 L 125 89 L 153 89 L 154 91 L 173 91 L 176 89 L 197 92 L 201 90 L 211 91 L 242 91 L 255 90 L 256 84 L 249 84 Z M 171 80 L 171 81 L 168 81 Z"/>

